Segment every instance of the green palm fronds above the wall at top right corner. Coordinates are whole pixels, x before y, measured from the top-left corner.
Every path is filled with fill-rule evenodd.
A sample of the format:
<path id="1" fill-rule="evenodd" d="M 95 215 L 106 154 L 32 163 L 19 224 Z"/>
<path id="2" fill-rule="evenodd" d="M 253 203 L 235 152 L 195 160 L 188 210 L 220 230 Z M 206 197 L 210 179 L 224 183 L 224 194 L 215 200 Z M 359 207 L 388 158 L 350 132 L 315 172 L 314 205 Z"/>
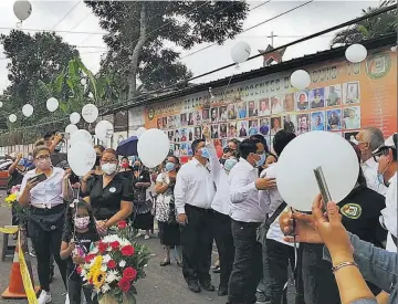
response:
<path id="1" fill-rule="evenodd" d="M 367 8 L 363 10 L 363 15 L 373 13 L 379 9 L 397 4 L 397 0 L 385 0 L 376 8 Z M 390 34 L 397 31 L 397 10 L 381 13 L 374 18 L 369 18 L 344 29 L 336 33 L 332 40 L 332 46 L 336 44 L 360 43 L 365 40 Z"/>

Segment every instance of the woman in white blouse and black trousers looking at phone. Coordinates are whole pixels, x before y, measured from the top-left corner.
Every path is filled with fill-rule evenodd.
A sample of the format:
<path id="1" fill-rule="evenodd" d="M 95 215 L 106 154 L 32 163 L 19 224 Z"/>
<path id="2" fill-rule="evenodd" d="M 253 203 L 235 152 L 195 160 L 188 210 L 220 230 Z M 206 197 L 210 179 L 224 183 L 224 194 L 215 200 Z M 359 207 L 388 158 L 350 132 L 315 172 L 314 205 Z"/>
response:
<path id="1" fill-rule="evenodd" d="M 35 169 L 25 174 L 22 180 L 20 205 L 30 205 L 29 230 L 38 258 L 38 273 L 42 292 L 39 304 L 51 302 L 50 255 L 54 255 L 64 284 L 66 261 L 60 258 L 62 229 L 64 224 L 69 175 L 51 164 L 50 149 L 39 146 L 33 150 Z M 63 195 L 64 193 L 64 195 Z"/>

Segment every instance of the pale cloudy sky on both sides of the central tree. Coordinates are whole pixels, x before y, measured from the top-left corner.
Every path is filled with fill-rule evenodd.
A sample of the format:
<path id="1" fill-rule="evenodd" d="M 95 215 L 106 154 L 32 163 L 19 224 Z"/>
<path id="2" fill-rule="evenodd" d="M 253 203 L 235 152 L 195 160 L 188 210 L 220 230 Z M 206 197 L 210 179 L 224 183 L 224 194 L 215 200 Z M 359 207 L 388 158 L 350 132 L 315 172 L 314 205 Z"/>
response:
<path id="1" fill-rule="evenodd" d="M 10 29 L 17 28 L 17 18 L 13 14 L 14 0 L 0 1 L 0 32 L 7 34 Z M 31 17 L 23 22 L 22 30 L 33 33 L 31 30 L 54 30 L 70 44 L 76 45 L 83 62 L 93 72 L 100 67 L 101 56 L 106 52 L 106 45 L 102 41 L 104 32 L 98 25 L 98 19 L 83 3 L 83 1 L 31 1 L 33 11 Z M 200 51 L 209 44 L 196 45 L 192 50 L 182 51 L 181 60 L 193 72 L 193 75 L 216 70 L 232 63 L 230 52 L 237 41 L 245 41 L 251 46 L 251 55 L 258 54 L 258 50 L 265 49 L 271 43 L 268 38 L 273 32 L 274 46 L 295 41 L 305 35 L 322 31 L 333 25 L 343 23 L 362 14 L 362 9 L 378 4 L 378 1 L 312 1 L 298 9 L 287 12 L 307 1 L 250 1 L 251 11 L 244 21 L 244 29 L 266 21 L 252 30 L 239 34 L 235 40 L 228 40 L 223 45 L 213 45 Z M 262 4 L 263 3 L 263 4 Z M 262 4 L 262 6 L 259 6 Z M 258 7 L 259 6 L 259 7 Z M 258 7 L 258 8 L 255 8 Z M 284 60 L 300 57 L 317 51 L 329 49 L 333 33 L 300 43 L 287 49 Z M 1 45 L 0 45 L 1 48 Z M 0 49 L 2 51 L 2 48 Z M 198 53 L 192 54 L 198 51 Z M 196 82 L 208 82 L 242 73 L 262 66 L 262 59 L 255 59 L 243 63 L 240 69 L 230 67 Z M 0 54 L 0 92 L 7 87 L 7 60 Z"/>

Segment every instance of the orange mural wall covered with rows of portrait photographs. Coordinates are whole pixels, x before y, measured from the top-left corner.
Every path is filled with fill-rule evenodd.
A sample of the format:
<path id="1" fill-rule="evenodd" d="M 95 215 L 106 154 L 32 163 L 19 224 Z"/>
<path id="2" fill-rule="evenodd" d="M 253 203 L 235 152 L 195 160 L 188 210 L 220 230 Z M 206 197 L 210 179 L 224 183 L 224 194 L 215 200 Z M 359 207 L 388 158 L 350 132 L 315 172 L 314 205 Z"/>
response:
<path id="1" fill-rule="evenodd" d="M 201 138 L 205 125 L 224 146 L 229 138 L 262 134 L 272 143 L 280 129 L 301 135 L 311 130 L 338 133 L 347 139 L 362 126 L 377 126 L 387 135 L 396 132 L 397 69 L 389 51 L 370 52 L 362 64 L 345 59 L 304 66 L 312 76 L 308 90 L 290 85 L 293 71 L 212 88 L 146 108 L 145 125 L 167 133 L 177 156 L 189 155 L 190 144 Z"/>

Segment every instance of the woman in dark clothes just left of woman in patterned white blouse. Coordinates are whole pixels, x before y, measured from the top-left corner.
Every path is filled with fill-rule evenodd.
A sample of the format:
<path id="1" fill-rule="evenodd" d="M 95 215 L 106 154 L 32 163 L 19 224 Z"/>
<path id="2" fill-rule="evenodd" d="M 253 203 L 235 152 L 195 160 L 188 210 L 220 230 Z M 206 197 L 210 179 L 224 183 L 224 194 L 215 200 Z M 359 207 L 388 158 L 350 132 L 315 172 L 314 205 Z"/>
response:
<path id="1" fill-rule="evenodd" d="M 145 169 L 139 158 L 136 158 L 133 166 L 134 209 L 133 227 L 145 230 L 145 240 L 150 238 L 150 230 L 154 227 L 151 214 L 153 202 L 148 189 L 151 185 L 149 171 Z M 140 237 L 140 233 L 136 235 Z"/>

